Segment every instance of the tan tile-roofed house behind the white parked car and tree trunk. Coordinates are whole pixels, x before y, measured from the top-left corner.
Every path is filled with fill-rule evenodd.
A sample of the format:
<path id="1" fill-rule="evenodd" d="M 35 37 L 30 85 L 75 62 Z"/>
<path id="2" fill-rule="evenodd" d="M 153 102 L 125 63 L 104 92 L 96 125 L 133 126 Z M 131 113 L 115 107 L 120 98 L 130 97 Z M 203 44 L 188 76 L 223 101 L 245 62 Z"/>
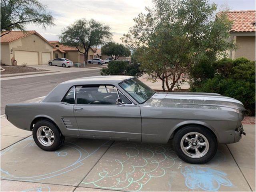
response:
<path id="1" fill-rule="evenodd" d="M 49 41 L 55 48 L 53 51 L 54 58 L 67 58 L 74 63 L 83 63 L 84 54 L 78 52 L 77 48 L 61 44 L 59 41 Z M 100 58 L 97 48 L 90 48 L 88 59 Z"/>

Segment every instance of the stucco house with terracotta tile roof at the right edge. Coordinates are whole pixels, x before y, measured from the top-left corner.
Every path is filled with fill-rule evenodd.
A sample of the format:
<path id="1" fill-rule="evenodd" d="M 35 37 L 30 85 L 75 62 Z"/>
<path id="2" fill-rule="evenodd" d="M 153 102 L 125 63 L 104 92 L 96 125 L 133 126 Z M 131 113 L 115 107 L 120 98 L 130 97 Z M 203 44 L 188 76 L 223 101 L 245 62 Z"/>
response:
<path id="1" fill-rule="evenodd" d="M 255 61 L 255 10 L 229 11 L 227 14 L 233 22 L 230 40 L 237 46 L 237 50 L 230 51 L 229 57 Z"/>

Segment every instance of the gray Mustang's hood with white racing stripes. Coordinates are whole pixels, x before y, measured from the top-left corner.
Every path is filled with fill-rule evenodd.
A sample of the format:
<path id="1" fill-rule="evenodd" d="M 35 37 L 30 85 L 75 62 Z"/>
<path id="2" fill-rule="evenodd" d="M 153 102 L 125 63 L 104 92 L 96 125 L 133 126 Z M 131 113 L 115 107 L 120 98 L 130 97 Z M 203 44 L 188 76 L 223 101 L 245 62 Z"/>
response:
<path id="1" fill-rule="evenodd" d="M 228 107 L 246 111 L 242 102 L 216 93 L 156 92 L 144 106 L 154 107 Z"/>

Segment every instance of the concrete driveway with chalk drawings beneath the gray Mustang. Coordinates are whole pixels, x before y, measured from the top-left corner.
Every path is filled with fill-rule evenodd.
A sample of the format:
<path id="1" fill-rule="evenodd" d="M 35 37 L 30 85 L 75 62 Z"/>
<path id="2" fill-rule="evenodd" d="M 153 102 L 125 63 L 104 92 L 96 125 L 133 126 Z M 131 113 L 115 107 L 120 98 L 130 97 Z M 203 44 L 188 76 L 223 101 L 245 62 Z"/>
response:
<path id="1" fill-rule="evenodd" d="M 220 144 L 208 164 L 187 164 L 172 144 L 66 138 L 41 150 L 31 132 L 1 118 L 2 191 L 255 191 L 255 125 Z"/>

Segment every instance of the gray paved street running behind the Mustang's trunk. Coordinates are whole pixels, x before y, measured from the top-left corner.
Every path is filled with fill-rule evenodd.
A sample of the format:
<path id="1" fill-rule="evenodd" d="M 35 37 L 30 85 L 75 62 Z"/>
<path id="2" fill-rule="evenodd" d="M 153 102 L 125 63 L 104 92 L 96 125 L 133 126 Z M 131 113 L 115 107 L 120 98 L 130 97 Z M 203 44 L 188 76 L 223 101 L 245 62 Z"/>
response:
<path id="1" fill-rule="evenodd" d="M 8 103 L 19 103 L 45 96 L 61 82 L 97 75 L 100 75 L 99 69 L 1 81 L 1 115 L 4 114 L 5 105 Z"/>

